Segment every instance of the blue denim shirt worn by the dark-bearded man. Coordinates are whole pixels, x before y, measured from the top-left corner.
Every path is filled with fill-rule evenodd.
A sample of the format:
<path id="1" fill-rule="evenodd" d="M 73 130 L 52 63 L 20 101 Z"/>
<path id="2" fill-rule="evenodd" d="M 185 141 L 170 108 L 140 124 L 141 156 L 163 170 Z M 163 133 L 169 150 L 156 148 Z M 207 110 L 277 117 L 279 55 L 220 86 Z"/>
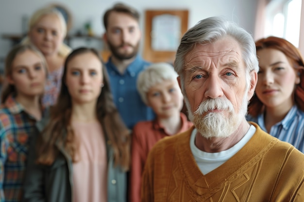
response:
<path id="1" fill-rule="evenodd" d="M 111 58 L 105 64 L 115 105 L 122 120 L 131 130 L 137 122 L 150 121 L 155 118 L 153 110 L 143 103 L 136 89 L 138 74 L 150 64 L 137 55 L 122 75 L 112 63 Z"/>

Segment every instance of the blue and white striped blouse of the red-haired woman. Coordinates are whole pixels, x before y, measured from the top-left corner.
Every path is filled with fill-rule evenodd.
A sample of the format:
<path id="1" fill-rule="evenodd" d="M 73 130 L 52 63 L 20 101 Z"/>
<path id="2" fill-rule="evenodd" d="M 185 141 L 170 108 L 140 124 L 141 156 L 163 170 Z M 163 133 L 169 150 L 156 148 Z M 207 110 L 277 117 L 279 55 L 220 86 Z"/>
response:
<path id="1" fill-rule="evenodd" d="M 247 121 L 257 123 L 262 130 L 267 131 L 264 122 L 264 114 L 257 117 L 247 115 Z M 304 112 L 295 105 L 293 106 L 285 118 L 270 129 L 270 135 L 279 140 L 289 142 L 302 153 L 304 153 Z"/>

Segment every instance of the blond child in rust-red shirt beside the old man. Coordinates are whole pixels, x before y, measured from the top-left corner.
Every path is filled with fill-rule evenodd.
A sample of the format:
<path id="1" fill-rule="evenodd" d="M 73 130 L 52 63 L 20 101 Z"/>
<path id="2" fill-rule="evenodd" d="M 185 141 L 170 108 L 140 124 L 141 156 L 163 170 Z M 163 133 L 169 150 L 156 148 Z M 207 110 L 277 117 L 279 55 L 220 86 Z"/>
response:
<path id="1" fill-rule="evenodd" d="M 154 144 L 192 126 L 181 112 L 184 98 L 177 76 L 172 65 L 160 62 L 150 65 L 137 78 L 137 90 L 144 103 L 153 109 L 156 119 L 138 122 L 133 129 L 130 185 L 132 202 L 140 202 L 141 174 Z"/>

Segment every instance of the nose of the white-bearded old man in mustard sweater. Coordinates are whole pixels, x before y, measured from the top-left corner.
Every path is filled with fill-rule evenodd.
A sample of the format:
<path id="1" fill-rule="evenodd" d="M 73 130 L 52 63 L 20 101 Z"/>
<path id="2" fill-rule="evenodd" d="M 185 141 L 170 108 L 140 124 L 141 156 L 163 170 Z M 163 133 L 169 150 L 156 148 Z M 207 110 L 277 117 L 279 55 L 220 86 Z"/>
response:
<path id="1" fill-rule="evenodd" d="M 222 91 L 222 84 L 219 76 L 210 74 L 204 85 L 206 85 L 206 91 L 204 93 L 206 98 L 215 99 L 223 96 L 224 93 Z"/>

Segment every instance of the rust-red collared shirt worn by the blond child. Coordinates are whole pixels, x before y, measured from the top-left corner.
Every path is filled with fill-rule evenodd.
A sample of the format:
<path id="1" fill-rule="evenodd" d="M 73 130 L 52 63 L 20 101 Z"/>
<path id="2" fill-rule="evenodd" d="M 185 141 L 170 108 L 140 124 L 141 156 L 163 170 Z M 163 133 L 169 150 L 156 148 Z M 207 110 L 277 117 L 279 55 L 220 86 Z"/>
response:
<path id="1" fill-rule="evenodd" d="M 186 131 L 193 124 L 181 113 L 182 127 L 178 133 Z M 149 151 L 154 144 L 170 136 L 164 127 L 156 120 L 138 122 L 133 128 L 132 135 L 132 165 L 131 165 L 131 202 L 140 202 L 140 181 Z"/>

